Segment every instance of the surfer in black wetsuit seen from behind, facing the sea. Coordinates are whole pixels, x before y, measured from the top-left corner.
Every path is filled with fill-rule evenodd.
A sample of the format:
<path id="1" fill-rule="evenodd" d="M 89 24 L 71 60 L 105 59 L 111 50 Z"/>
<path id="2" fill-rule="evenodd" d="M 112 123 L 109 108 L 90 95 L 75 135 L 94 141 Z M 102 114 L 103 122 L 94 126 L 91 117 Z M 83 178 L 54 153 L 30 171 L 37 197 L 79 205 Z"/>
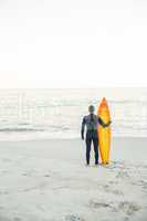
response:
<path id="1" fill-rule="evenodd" d="M 103 127 L 109 126 L 105 124 L 101 117 L 94 114 L 95 107 L 91 105 L 88 107 L 90 115 L 84 116 L 82 120 L 82 128 L 81 128 L 81 137 L 84 140 L 84 130 L 86 126 L 86 164 L 90 165 L 90 154 L 91 154 L 91 145 L 93 141 L 94 145 L 94 152 L 95 152 L 95 165 L 98 165 L 98 135 L 97 135 L 97 126 L 101 124 Z"/>

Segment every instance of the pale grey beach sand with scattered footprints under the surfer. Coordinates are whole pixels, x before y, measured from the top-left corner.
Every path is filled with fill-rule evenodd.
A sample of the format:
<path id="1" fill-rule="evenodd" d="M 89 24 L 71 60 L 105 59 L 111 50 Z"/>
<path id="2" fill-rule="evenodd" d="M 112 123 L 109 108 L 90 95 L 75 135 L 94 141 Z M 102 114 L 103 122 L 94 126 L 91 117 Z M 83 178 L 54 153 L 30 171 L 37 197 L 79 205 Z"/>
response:
<path id="1" fill-rule="evenodd" d="M 0 143 L 0 221 L 146 221 L 147 138 L 113 138 L 108 166 L 80 139 Z"/>

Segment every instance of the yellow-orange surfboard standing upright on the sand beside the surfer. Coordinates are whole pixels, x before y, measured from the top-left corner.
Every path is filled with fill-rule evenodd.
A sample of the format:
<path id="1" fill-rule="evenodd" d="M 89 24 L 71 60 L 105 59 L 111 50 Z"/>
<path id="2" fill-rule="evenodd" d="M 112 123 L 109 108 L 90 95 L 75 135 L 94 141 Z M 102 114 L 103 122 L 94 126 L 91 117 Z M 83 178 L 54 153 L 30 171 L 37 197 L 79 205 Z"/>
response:
<path id="1" fill-rule="evenodd" d="M 97 109 L 97 115 L 105 124 L 111 120 L 109 109 L 105 97 L 102 99 L 102 103 Z M 97 133 L 102 164 L 106 165 L 109 162 L 111 126 L 104 128 L 103 126 L 98 125 Z"/>

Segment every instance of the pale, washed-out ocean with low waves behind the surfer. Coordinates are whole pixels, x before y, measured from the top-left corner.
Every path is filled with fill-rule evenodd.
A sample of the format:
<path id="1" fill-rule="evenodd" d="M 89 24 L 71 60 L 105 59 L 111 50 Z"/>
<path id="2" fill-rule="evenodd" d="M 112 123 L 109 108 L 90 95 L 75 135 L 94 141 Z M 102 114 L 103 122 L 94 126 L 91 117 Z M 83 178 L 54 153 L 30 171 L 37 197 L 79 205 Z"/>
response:
<path id="1" fill-rule="evenodd" d="M 97 108 L 102 91 L 0 90 L 0 140 L 78 138 L 82 118 L 88 105 Z M 147 96 L 108 95 L 112 135 L 146 137 Z"/>

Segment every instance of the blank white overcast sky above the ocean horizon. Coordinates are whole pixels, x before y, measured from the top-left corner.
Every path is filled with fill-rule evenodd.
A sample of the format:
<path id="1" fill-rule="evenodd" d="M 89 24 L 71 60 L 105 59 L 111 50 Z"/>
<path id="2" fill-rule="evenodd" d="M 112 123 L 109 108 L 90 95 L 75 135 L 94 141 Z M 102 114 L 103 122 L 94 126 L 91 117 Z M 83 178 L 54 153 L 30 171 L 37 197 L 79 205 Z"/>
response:
<path id="1" fill-rule="evenodd" d="M 1 0 L 0 88 L 146 87 L 146 0 Z"/>

